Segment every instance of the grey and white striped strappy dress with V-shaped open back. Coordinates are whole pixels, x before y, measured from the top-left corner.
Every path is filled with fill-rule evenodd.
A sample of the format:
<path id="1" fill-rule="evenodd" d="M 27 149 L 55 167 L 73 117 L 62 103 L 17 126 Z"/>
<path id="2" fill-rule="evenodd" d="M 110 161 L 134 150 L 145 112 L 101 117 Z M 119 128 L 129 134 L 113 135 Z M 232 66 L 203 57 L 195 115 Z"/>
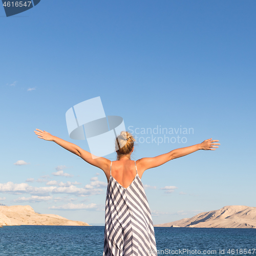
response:
<path id="1" fill-rule="evenodd" d="M 137 172 L 136 161 L 135 167 L 136 176 L 127 188 L 113 178 L 110 167 L 103 256 L 157 255 L 151 211 Z"/>

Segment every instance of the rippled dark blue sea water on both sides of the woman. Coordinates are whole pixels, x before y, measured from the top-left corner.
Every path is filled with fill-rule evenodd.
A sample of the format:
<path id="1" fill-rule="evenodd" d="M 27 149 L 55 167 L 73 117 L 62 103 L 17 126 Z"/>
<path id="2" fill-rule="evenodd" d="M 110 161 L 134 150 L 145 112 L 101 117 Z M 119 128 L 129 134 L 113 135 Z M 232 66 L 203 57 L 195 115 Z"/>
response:
<path id="1" fill-rule="evenodd" d="M 256 248 L 256 229 L 155 227 L 155 235 L 158 255 L 256 256 L 256 250 L 254 253 L 252 250 Z M 102 256 L 103 242 L 104 226 L 5 226 L 0 228 L 1 256 Z M 220 249 L 224 249 L 224 254 L 220 253 Z M 251 250 L 246 254 L 240 249 Z"/>

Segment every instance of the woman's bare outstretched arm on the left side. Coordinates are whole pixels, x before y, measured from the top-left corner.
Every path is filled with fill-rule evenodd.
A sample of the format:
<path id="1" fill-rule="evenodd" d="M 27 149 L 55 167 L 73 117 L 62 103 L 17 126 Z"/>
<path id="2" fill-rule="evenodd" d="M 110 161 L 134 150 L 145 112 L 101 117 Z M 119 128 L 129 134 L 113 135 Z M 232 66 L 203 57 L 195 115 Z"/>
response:
<path id="1" fill-rule="evenodd" d="M 81 157 L 84 161 L 88 162 L 89 164 L 92 164 L 100 169 L 102 169 L 104 172 L 109 169 L 110 166 L 110 160 L 106 159 L 104 157 L 92 157 L 92 154 L 86 150 L 83 150 L 81 147 L 77 146 L 76 144 L 73 144 L 71 142 L 68 142 L 66 140 L 62 140 L 56 136 L 51 135 L 50 133 L 46 131 L 41 131 L 39 129 L 36 129 L 37 131 L 34 131 L 37 137 L 40 139 L 48 140 L 48 141 L 54 141 L 58 145 L 62 146 L 66 150 L 70 151 L 71 153 Z"/>

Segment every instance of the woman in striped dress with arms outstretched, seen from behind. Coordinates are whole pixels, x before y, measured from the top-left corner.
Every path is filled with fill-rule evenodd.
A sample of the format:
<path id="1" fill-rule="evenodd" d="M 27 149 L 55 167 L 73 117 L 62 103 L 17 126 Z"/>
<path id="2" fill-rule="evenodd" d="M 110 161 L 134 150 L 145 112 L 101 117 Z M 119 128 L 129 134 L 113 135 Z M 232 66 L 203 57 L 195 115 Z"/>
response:
<path id="1" fill-rule="evenodd" d="M 160 166 L 175 158 L 198 150 L 216 150 L 219 140 L 208 139 L 200 144 L 178 148 L 156 157 L 131 160 L 134 137 L 121 132 L 116 139 L 117 161 L 104 157 L 92 158 L 79 146 L 36 129 L 37 137 L 54 141 L 84 161 L 100 168 L 108 180 L 105 202 L 105 230 L 103 256 L 157 255 L 155 232 L 146 194 L 141 182 L 145 170 Z"/>

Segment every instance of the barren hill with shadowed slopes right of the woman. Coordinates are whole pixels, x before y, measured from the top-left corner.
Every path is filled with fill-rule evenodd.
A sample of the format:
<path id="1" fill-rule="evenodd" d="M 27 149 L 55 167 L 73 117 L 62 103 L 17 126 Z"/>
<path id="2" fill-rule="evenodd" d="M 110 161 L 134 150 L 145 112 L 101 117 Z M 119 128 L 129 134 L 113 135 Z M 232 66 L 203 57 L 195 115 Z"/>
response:
<path id="1" fill-rule="evenodd" d="M 202 212 L 192 218 L 173 221 L 154 227 L 220 227 L 256 228 L 256 207 L 244 205 L 224 206 L 219 210 Z"/>

